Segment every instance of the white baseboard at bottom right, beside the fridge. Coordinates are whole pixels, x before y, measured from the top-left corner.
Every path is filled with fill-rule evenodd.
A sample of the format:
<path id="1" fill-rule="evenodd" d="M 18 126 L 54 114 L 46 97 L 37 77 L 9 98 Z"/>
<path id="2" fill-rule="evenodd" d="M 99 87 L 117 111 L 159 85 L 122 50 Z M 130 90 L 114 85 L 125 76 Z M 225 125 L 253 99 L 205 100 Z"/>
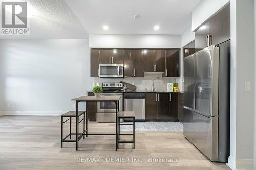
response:
<path id="1" fill-rule="evenodd" d="M 253 169 L 253 159 L 233 159 L 228 157 L 227 166 L 232 170 L 252 170 Z"/>

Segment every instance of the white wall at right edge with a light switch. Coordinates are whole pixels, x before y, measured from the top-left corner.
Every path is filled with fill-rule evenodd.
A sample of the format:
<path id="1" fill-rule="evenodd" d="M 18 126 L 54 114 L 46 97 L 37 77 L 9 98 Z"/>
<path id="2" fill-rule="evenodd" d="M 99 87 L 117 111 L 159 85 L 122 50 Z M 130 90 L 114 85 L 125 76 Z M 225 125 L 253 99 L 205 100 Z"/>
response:
<path id="1" fill-rule="evenodd" d="M 253 0 L 231 0 L 231 142 L 228 165 L 233 169 L 253 168 L 253 3 Z M 251 83 L 251 90 L 248 92 L 244 91 L 245 82 Z"/>

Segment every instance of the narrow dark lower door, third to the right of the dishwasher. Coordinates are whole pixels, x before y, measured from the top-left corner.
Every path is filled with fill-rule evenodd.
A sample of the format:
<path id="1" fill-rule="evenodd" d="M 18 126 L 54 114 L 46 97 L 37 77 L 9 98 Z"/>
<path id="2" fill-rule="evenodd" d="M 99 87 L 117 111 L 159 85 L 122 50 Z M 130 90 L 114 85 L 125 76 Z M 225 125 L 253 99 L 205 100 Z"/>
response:
<path id="1" fill-rule="evenodd" d="M 169 94 L 169 119 L 173 121 L 178 120 L 178 95 L 178 93 Z"/>

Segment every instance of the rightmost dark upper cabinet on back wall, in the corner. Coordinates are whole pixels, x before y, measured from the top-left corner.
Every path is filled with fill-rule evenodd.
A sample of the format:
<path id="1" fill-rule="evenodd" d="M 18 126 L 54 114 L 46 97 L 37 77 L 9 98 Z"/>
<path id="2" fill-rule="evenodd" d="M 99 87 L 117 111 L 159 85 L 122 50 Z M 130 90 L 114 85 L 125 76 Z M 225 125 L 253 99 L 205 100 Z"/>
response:
<path id="1" fill-rule="evenodd" d="M 180 50 L 166 50 L 165 77 L 180 77 Z"/>

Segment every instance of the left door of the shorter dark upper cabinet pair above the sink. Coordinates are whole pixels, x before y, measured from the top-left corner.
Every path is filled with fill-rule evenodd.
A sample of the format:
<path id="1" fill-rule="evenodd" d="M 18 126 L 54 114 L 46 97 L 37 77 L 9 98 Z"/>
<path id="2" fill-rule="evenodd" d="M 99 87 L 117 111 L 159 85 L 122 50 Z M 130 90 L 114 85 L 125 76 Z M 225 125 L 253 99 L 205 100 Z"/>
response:
<path id="1" fill-rule="evenodd" d="M 155 72 L 155 50 L 144 50 L 144 69 L 145 72 Z"/>

